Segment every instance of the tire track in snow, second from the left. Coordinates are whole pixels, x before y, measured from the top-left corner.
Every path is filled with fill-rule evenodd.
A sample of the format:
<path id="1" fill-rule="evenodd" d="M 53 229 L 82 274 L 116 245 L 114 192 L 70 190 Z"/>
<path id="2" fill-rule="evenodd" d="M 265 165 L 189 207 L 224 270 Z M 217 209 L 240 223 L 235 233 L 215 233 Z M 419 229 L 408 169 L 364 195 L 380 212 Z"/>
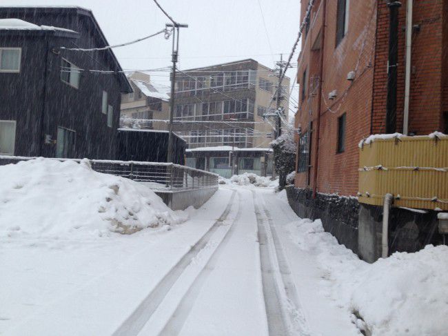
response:
<path id="1" fill-rule="evenodd" d="M 190 286 L 190 288 L 187 290 L 185 296 L 181 298 L 179 305 L 174 311 L 172 317 L 170 317 L 170 319 L 167 321 L 167 324 L 165 324 L 165 327 L 163 328 L 163 330 L 159 335 L 179 335 L 179 333 L 181 333 L 183 324 L 185 324 L 188 315 L 190 315 L 192 306 L 194 305 L 196 298 L 201 292 L 203 284 L 205 283 L 207 277 L 210 275 L 212 270 L 214 270 L 214 268 L 216 267 L 216 264 L 218 262 L 219 257 L 221 256 L 223 248 L 232 238 L 232 234 L 234 233 L 235 230 L 234 226 L 235 221 L 237 221 L 238 218 L 241 217 L 241 210 L 243 208 L 241 206 L 241 201 L 243 200 L 241 199 L 242 195 L 240 192 L 238 192 L 238 196 L 240 197 L 240 201 L 238 202 L 238 212 L 236 214 L 234 222 L 230 225 L 230 228 L 225 233 L 223 240 L 218 244 L 218 246 L 212 253 L 212 256 L 207 261 L 207 264 L 205 264 L 203 270 L 201 270 L 201 273 L 199 273 L 196 280 L 192 283 L 192 286 Z"/>

